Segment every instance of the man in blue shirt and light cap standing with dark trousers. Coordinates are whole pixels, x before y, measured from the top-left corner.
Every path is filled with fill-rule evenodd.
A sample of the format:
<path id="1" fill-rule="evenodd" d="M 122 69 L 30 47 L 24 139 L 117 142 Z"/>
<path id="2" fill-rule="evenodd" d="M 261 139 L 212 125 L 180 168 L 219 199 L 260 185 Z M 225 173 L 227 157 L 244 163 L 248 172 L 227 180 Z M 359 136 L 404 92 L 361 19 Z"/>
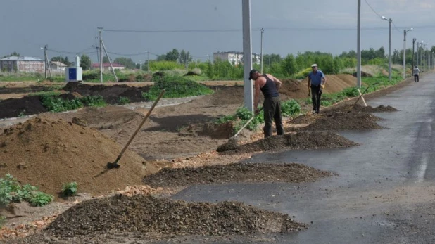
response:
<path id="1" fill-rule="evenodd" d="M 311 72 L 308 74 L 308 96 L 311 94 L 311 101 L 313 101 L 313 113 L 320 112 L 320 96 L 322 96 L 322 89 L 326 83 L 326 77 L 322 70 L 317 70 L 317 64 L 311 65 Z"/>

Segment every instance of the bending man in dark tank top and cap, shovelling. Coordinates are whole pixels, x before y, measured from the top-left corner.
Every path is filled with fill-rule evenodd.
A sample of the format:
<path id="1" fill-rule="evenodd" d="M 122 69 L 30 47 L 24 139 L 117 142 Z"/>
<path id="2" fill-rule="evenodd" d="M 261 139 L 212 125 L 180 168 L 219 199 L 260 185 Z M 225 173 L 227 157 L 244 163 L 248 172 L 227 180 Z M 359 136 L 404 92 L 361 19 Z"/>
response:
<path id="1" fill-rule="evenodd" d="M 275 121 L 277 127 L 277 134 L 284 134 L 284 126 L 282 124 L 281 115 L 281 101 L 279 101 L 279 87 L 281 86 L 281 81 L 273 77 L 270 74 L 262 75 L 258 70 L 251 70 L 249 72 L 249 79 L 255 81 L 254 85 L 256 88 L 256 93 L 254 95 L 254 109 L 258 113 L 258 102 L 260 101 L 260 91 L 263 92 L 265 96 L 265 101 L 263 103 L 265 127 L 263 131 L 265 137 L 272 136 L 272 120 Z"/>

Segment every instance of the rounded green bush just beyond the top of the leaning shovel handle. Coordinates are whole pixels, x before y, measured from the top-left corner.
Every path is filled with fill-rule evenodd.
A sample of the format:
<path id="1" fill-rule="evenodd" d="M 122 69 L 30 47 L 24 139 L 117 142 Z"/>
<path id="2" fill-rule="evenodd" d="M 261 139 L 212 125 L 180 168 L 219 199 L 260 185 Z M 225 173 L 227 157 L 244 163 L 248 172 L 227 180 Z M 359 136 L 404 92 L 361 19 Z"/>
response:
<path id="1" fill-rule="evenodd" d="M 164 75 L 156 82 L 149 91 L 142 94 L 149 101 L 154 101 L 165 89 L 163 98 L 182 98 L 187 96 L 200 96 L 213 94 L 213 90 L 203 84 L 198 84 L 186 77 L 175 77 Z"/>

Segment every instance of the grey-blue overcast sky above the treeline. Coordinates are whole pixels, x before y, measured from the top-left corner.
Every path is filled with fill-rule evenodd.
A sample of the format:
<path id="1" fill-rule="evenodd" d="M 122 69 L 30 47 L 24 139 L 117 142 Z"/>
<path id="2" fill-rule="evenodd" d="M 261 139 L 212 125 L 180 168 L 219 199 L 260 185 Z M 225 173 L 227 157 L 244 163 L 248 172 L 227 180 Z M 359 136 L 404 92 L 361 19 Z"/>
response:
<path id="1" fill-rule="evenodd" d="M 0 8 L 0 56 L 17 51 L 21 56 L 43 58 L 41 48 L 48 45 L 49 58 L 72 60 L 76 53 L 86 53 L 96 62 L 92 46 L 98 44 L 97 27 L 102 27 L 103 43 L 112 59 L 123 56 L 144 62 L 145 51 L 164 54 L 184 49 L 195 59 L 206 60 L 217 51 L 243 51 L 241 2 L 5 0 Z M 251 0 L 252 51 L 260 53 L 260 28 L 265 29 L 263 53 L 337 55 L 356 50 L 357 3 Z M 389 22 L 379 16 L 393 20 L 391 53 L 403 49 L 403 30 L 411 27 L 407 48 L 412 48 L 413 38 L 435 46 L 434 11 L 433 0 L 361 0 L 362 49 L 384 46 L 388 53 Z M 195 31 L 174 32 L 180 30 Z M 150 59 L 156 58 L 154 54 Z"/>

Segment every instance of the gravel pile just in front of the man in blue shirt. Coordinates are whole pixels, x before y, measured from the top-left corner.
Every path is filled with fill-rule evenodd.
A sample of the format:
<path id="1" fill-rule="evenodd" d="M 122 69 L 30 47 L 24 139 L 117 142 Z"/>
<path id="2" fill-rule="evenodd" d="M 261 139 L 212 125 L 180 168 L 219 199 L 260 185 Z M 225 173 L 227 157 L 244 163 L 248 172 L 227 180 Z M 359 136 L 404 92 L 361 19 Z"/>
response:
<path id="1" fill-rule="evenodd" d="M 315 120 L 303 130 L 351 130 L 351 129 L 382 129 L 376 121 L 381 118 L 370 113 L 327 113 Z"/>

